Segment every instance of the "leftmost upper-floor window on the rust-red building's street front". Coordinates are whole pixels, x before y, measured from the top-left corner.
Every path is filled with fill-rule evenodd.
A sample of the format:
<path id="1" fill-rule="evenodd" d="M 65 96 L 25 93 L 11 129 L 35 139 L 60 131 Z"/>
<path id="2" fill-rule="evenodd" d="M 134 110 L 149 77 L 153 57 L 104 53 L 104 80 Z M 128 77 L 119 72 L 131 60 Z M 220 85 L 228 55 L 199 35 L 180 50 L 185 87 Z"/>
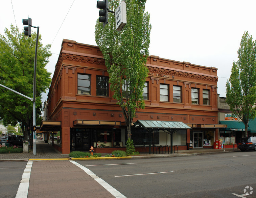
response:
<path id="1" fill-rule="evenodd" d="M 77 74 L 77 94 L 91 95 L 91 75 Z"/>

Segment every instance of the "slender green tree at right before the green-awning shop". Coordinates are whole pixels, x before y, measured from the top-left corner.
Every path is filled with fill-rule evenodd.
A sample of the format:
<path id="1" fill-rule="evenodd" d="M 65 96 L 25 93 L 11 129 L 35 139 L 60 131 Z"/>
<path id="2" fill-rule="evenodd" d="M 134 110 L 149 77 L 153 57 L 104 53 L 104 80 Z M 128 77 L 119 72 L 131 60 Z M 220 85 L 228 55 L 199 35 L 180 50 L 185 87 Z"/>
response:
<path id="1" fill-rule="evenodd" d="M 238 61 L 233 62 L 231 75 L 226 83 L 227 103 L 230 110 L 245 124 L 256 116 L 256 41 L 245 32 L 237 51 Z"/>

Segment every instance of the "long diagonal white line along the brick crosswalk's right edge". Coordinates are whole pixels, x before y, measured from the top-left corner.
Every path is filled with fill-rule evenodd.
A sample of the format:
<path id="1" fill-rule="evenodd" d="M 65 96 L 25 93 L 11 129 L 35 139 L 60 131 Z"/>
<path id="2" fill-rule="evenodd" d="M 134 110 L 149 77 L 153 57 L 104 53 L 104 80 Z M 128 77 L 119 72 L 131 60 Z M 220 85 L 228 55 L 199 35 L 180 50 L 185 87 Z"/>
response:
<path id="1" fill-rule="evenodd" d="M 117 191 L 115 188 L 110 186 L 106 181 L 103 179 L 99 178 L 97 175 L 95 175 L 92 171 L 90 171 L 88 168 L 78 164 L 75 161 L 70 161 L 74 165 L 78 166 L 81 168 L 83 171 L 85 171 L 88 175 L 90 175 L 92 178 L 94 178 L 95 181 L 97 181 L 102 187 L 104 187 L 107 191 L 109 191 L 114 197 L 118 198 L 126 198 L 123 194 L 121 194 L 119 191 Z"/>

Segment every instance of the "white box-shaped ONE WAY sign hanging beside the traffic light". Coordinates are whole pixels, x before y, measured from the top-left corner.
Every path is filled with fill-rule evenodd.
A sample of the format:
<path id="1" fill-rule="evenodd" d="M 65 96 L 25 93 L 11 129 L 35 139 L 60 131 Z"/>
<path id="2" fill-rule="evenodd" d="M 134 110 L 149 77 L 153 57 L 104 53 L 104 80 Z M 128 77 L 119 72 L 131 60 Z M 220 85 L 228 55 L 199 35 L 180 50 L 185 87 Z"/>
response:
<path id="1" fill-rule="evenodd" d="M 116 31 L 121 31 L 126 25 L 126 3 L 122 1 L 116 9 Z"/>

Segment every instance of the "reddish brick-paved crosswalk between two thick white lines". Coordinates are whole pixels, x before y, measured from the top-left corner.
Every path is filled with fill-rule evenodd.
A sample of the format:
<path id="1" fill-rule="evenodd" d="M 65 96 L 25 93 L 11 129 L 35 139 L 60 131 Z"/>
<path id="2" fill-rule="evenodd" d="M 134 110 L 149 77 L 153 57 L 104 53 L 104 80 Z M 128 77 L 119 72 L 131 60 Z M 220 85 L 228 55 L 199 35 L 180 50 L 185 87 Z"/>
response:
<path id="1" fill-rule="evenodd" d="M 28 188 L 32 197 L 114 197 L 70 161 L 33 161 Z"/>

